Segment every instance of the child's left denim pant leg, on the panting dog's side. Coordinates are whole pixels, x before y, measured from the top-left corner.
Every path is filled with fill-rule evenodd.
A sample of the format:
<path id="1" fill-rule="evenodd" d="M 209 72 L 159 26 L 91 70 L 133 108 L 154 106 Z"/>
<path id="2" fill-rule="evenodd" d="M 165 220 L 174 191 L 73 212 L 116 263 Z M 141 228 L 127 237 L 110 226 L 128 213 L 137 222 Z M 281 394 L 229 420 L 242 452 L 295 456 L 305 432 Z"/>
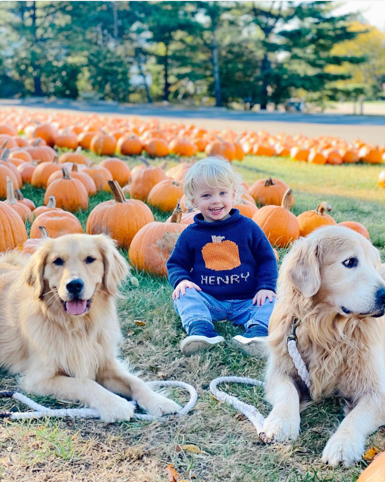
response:
<path id="1" fill-rule="evenodd" d="M 228 303 L 228 302 L 227 302 Z M 207 321 L 214 328 L 212 321 L 226 319 L 226 302 L 219 302 L 212 296 L 197 291 L 195 288 L 186 288 L 186 294 L 179 294 L 174 300 L 174 308 L 182 320 L 182 326 L 189 333 L 189 327 L 195 321 Z"/>

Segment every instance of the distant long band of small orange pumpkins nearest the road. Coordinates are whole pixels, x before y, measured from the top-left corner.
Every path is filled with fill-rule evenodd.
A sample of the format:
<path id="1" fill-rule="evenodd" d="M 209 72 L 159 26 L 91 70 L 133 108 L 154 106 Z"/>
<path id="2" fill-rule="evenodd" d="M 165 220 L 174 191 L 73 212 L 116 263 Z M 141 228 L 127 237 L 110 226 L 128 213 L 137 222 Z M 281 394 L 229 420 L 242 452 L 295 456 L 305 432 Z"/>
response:
<path id="1" fill-rule="evenodd" d="M 266 131 L 240 134 L 232 130 L 207 130 L 182 123 L 160 123 L 137 118 L 106 118 L 97 115 L 52 115 L 46 112 L 4 110 L 0 114 L 0 145 L 11 148 L 17 132 L 41 139 L 48 146 L 89 149 L 98 155 L 138 155 L 144 150 L 152 157 L 171 154 L 194 156 L 197 152 L 242 161 L 245 154 L 291 157 L 315 164 L 342 164 L 358 161 L 379 164 L 385 147 L 339 137 L 306 137 L 302 134 L 272 135 Z"/>

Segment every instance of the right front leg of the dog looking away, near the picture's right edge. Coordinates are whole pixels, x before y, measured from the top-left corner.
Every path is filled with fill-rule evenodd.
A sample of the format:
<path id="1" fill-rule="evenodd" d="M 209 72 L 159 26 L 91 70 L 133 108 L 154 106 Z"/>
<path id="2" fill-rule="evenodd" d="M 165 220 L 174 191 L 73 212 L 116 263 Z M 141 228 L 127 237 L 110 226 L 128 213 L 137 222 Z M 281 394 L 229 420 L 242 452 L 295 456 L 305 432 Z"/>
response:
<path id="1" fill-rule="evenodd" d="M 346 415 L 322 452 L 322 462 L 345 467 L 361 459 L 366 437 L 385 422 L 385 396 L 367 395 Z"/>

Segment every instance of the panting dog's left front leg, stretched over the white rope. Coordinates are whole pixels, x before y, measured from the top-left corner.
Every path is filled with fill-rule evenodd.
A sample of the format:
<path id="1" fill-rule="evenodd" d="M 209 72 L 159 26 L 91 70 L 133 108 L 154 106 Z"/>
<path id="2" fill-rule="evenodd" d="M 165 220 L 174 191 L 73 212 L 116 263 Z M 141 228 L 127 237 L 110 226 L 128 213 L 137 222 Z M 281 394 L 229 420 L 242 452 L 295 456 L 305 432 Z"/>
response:
<path id="1" fill-rule="evenodd" d="M 88 378 L 57 375 L 37 379 L 26 375 L 21 379 L 21 385 L 27 393 L 81 402 L 86 407 L 96 409 L 105 422 L 130 420 L 135 408 L 133 402 L 111 393 Z"/>

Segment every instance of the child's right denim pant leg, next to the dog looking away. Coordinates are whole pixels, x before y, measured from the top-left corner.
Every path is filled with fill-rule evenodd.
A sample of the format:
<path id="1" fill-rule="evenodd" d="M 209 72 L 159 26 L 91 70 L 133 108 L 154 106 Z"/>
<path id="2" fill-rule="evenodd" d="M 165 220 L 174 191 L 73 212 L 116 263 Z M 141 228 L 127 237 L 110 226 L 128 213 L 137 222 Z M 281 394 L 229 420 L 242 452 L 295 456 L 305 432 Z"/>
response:
<path id="1" fill-rule="evenodd" d="M 252 304 L 252 300 L 233 300 L 231 315 L 228 317 L 235 325 L 243 325 L 245 330 L 251 326 L 257 327 L 257 336 L 267 336 L 267 327 L 275 304 L 275 298 L 270 302 L 268 298 L 259 308 Z"/>

